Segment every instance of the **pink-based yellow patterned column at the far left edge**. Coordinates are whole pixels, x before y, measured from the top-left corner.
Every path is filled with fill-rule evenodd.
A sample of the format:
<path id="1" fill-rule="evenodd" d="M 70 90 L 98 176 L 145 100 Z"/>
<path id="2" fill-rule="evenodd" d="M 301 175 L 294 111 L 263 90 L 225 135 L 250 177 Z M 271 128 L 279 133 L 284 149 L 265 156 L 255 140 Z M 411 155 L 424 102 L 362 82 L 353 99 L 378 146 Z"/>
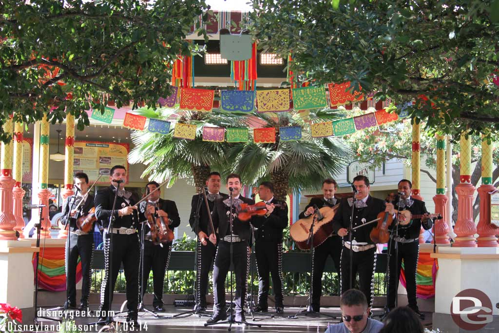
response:
<path id="1" fill-rule="evenodd" d="M 12 116 L 3 123 L 4 133 L 12 135 Z M 12 179 L 12 141 L 1 143 L 0 165 L 0 240 L 17 240 L 15 235 L 15 217 L 12 214 L 12 188 L 15 180 Z"/>

